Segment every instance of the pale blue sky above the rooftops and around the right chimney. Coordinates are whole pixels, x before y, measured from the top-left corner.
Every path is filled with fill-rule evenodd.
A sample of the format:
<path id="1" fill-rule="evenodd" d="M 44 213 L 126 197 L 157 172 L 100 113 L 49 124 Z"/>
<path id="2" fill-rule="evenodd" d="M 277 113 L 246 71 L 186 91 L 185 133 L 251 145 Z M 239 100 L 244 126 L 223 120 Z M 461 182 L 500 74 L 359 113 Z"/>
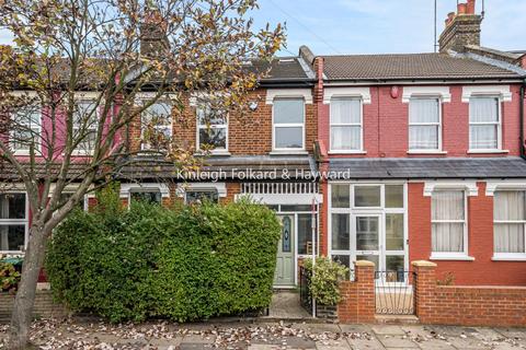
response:
<path id="1" fill-rule="evenodd" d="M 457 0 L 437 1 L 438 34 Z M 465 2 L 465 0 L 462 0 Z M 315 55 L 433 51 L 434 0 L 259 0 L 255 27 L 286 24 L 287 47 L 307 45 Z M 482 0 L 477 1 L 477 11 Z M 482 46 L 526 50 L 526 0 L 485 0 Z M 0 30 L 0 44 L 11 36 Z"/>

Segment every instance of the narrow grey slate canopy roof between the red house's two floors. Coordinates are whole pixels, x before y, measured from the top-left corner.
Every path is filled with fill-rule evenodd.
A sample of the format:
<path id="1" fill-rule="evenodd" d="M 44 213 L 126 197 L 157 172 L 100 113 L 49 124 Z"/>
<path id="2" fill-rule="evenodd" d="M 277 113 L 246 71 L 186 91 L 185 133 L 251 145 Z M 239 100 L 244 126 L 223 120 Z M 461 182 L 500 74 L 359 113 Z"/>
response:
<path id="1" fill-rule="evenodd" d="M 526 178 L 526 161 L 508 158 L 331 159 L 336 178 Z"/>

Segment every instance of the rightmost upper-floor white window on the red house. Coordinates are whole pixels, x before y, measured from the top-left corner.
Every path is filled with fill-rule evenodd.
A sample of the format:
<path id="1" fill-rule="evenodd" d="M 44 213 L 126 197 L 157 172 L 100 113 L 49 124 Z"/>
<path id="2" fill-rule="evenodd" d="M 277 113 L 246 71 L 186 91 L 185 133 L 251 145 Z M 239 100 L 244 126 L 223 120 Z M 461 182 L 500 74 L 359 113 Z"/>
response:
<path id="1" fill-rule="evenodd" d="M 469 98 L 469 149 L 495 151 L 502 148 L 501 103 L 498 96 Z"/>

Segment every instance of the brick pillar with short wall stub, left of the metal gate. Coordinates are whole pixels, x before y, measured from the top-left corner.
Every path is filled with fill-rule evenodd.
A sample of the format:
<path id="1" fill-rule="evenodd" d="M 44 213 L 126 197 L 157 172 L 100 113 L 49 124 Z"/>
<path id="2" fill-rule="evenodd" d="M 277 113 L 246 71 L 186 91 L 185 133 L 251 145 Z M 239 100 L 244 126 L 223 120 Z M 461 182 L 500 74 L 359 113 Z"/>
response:
<path id="1" fill-rule="evenodd" d="M 371 323 L 375 320 L 375 264 L 356 261 L 355 280 L 340 284 L 342 301 L 338 305 L 341 323 Z"/>

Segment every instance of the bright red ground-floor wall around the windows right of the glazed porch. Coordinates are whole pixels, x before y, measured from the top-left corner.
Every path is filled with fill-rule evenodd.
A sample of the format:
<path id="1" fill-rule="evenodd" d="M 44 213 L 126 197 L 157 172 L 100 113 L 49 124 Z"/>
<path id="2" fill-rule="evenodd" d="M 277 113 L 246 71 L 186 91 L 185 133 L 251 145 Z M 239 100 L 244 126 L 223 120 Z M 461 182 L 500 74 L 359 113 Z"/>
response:
<path id="1" fill-rule="evenodd" d="M 453 273 L 456 284 L 526 285 L 525 262 L 495 261 L 493 257 L 493 197 L 485 183 L 477 183 L 478 196 L 468 197 L 468 255 L 474 260 L 436 260 L 438 279 Z M 409 260 L 431 257 L 431 197 L 423 183 L 408 184 Z"/>

